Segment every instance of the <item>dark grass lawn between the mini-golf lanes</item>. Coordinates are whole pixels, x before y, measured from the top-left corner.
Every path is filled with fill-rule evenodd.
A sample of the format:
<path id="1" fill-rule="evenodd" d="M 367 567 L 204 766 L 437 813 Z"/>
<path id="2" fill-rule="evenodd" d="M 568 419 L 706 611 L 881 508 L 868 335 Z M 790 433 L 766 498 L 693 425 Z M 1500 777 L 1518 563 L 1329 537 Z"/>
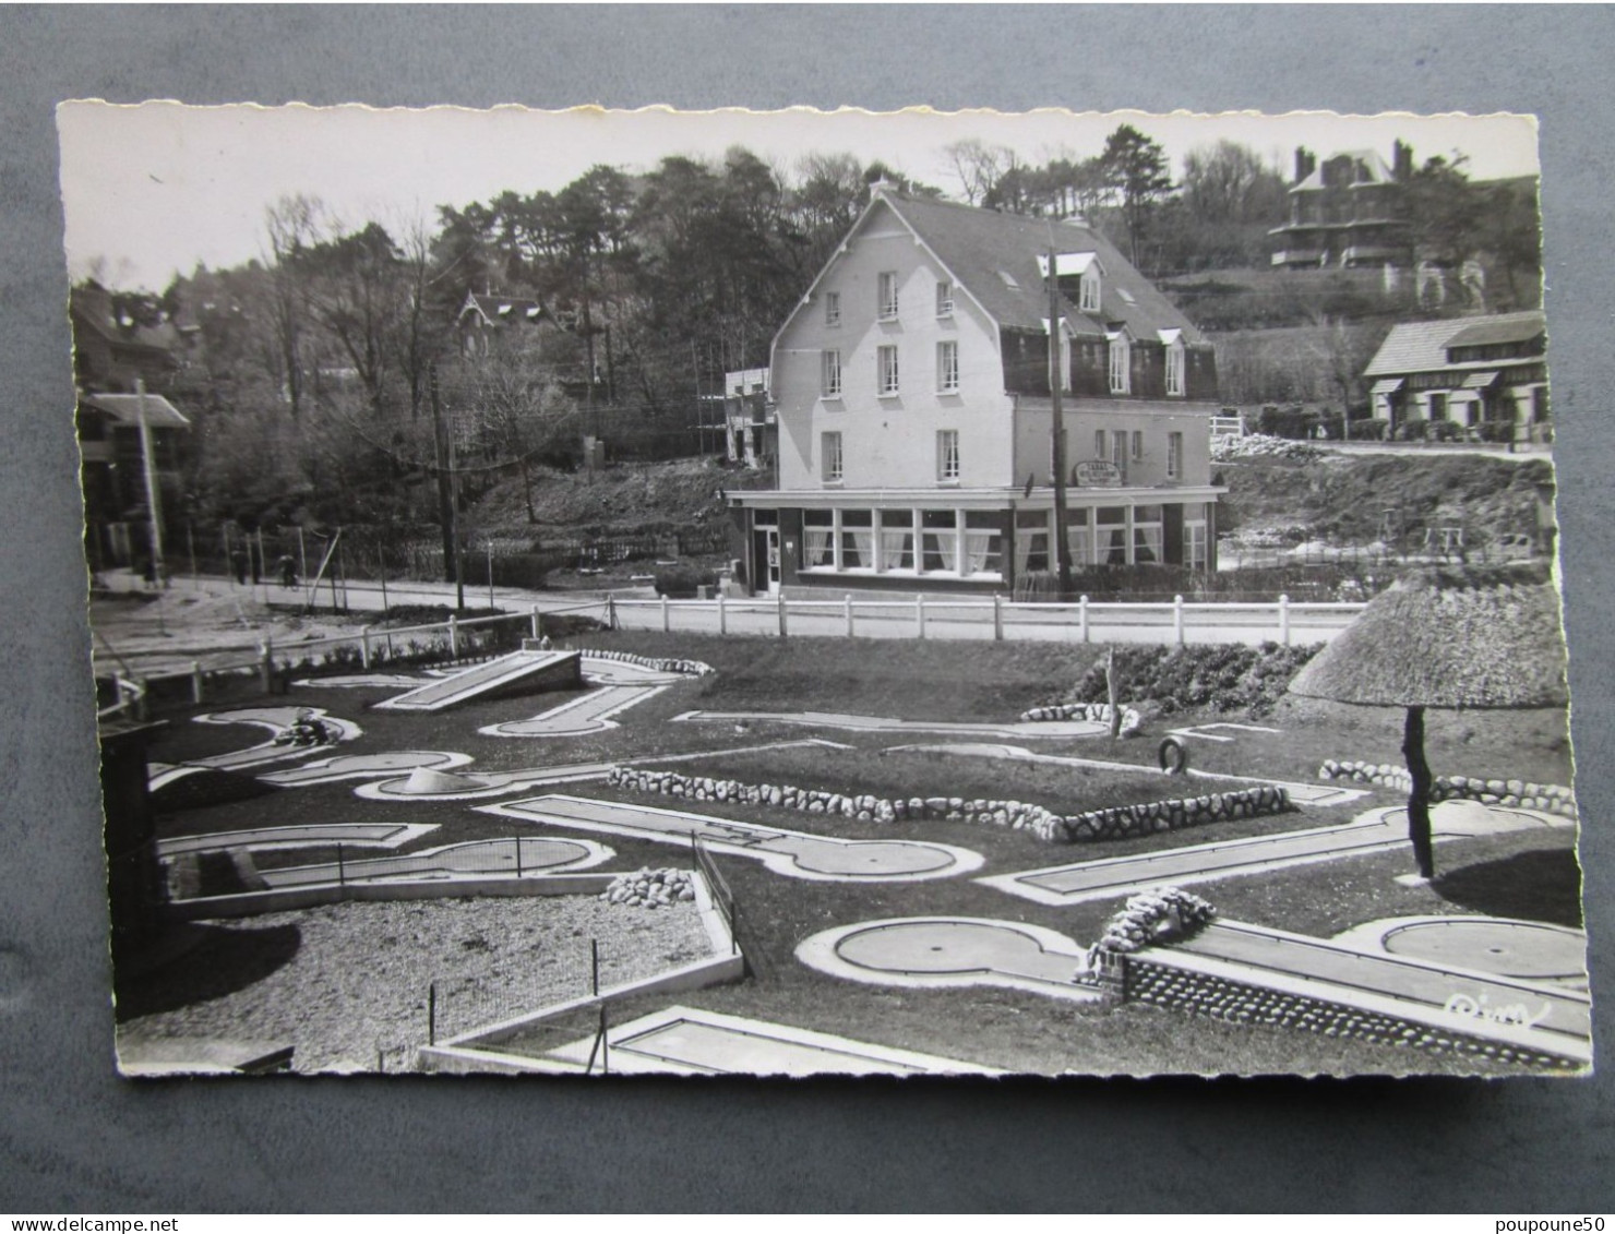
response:
<path id="1" fill-rule="evenodd" d="M 1061 812 L 1103 804 L 1156 801 L 1205 793 L 1218 785 L 1185 783 L 1155 767 L 1156 741 L 1168 728 L 1197 720 L 1242 720 L 1240 716 L 1177 714 L 1147 722 L 1134 740 L 1037 740 L 1026 745 L 1050 754 L 1130 762 L 1134 772 L 1098 772 L 1038 766 L 990 758 L 882 753 L 914 738 L 869 733 L 812 733 L 766 722 L 735 732 L 728 724 L 670 724 L 693 709 L 733 711 L 843 711 L 916 720 L 1014 720 L 1026 707 L 1058 698 L 1103 648 L 1055 644 L 958 644 L 866 640 L 767 640 L 707 638 L 659 633 L 602 633 L 570 640 L 573 646 L 615 648 L 646 656 L 704 661 L 719 672 L 673 685 L 617 717 L 619 727 L 586 737 L 499 738 L 481 727 L 531 717 L 575 695 L 473 703 L 436 716 L 373 711 L 389 698 L 386 688 L 292 688 L 287 695 L 254 699 L 260 706 L 315 706 L 357 722 L 363 735 L 334 753 L 362 754 L 388 749 L 447 749 L 472 754 L 467 770 L 510 770 L 586 761 L 643 762 L 656 754 L 715 751 L 709 758 L 672 764 L 690 774 L 725 775 L 746 782 L 796 783 L 835 791 L 869 791 L 882 796 L 982 796 L 1035 801 Z M 247 701 L 234 706 L 244 706 Z M 197 711 L 174 712 L 152 748 L 152 759 L 174 762 L 224 753 L 260 741 L 258 728 L 191 724 Z M 1365 758 L 1399 762 L 1400 712 L 1394 709 L 1329 707 L 1286 703 L 1260 724 L 1279 733 L 1232 733 L 1214 743 L 1190 738 L 1192 766 L 1237 775 L 1313 780 L 1324 758 Z M 846 749 L 796 748 L 743 753 L 740 748 L 770 741 L 825 737 Z M 924 740 L 924 738 L 921 738 Z M 1560 712 L 1431 712 L 1429 753 L 1437 772 L 1484 774 L 1563 782 L 1568 777 L 1565 717 Z M 320 758 L 320 756 L 313 756 Z M 296 761 L 273 766 L 297 766 Z M 273 769 L 265 767 L 265 770 Z M 194 835 L 275 824 L 312 822 L 426 822 L 436 830 L 401 851 L 446 843 L 556 833 L 523 827 L 514 819 L 480 814 L 475 804 L 454 801 L 378 803 L 354 796 L 357 782 L 310 788 L 273 790 L 252 800 L 200 804 L 158 817 L 158 835 Z M 1190 787 L 1192 785 L 1192 787 Z M 1399 796 L 1374 791 L 1361 803 L 1337 809 L 1263 819 L 1239 819 L 1176 833 L 1137 840 L 1082 845 L 1050 845 L 1022 832 L 980 824 L 901 822 L 859 824 L 853 819 L 806 814 L 730 803 L 686 803 L 609 790 L 604 782 L 564 785 L 551 791 L 617 798 L 659 808 L 759 822 L 845 838 L 924 838 L 982 853 L 980 874 L 1003 874 L 1038 866 L 1087 861 L 1130 853 L 1206 843 L 1245 835 L 1345 822 L 1373 804 L 1397 804 Z M 504 798 L 510 800 L 510 798 Z M 682 845 L 591 833 L 609 845 L 615 858 L 606 871 L 640 866 L 688 866 Z M 1579 921 L 1579 884 L 1567 832 L 1518 833 L 1487 840 L 1439 845 L 1442 877 L 1424 888 L 1403 888 L 1394 875 L 1412 869 L 1402 850 L 1336 863 L 1302 866 L 1271 875 L 1202 884 L 1198 892 L 1224 917 L 1331 935 L 1366 921 L 1420 913 L 1471 913 L 1520 916 L 1573 924 Z M 391 850 L 357 850 L 352 856 Z M 334 859 L 334 848 L 308 848 L 258 856 L 262 867 L 310 864 Z M 780 877 L 761 863 L 740 856 L 717 858 L 741 906 L 741 937 L 754 976 L 733 987 L 678 995 L 680 1001 L 733 1014 L 777 1019 L 824 1032 L 901 1045 L 963 1061 L 1011 1071 L 1089 1074 L 1150 1072 L 1384 1072 L 1460 1071 L 1484 1064 L 1444 1060 L 1391 1047 L 1370 1047 L 1339 1039 L 1311 1037 L 1282 1029 L 1227 1026 L 1189 1019 L 1145 1006 L 1072 1006 L 1030 993 L 972 988 L 953 992 L 864 987 L 806 969 L 795 959 L 796 945 L 832 926 L 903 916 L 971 916 L 1024 921 L 1055 929 L 1077 943 L 1089 943 L 1116 903 L 1069 908 L 1034 905 L 982 887 L 971 879 L 916 884 L 830 884 Z M 622 909 L 635 913 L 640 909 Z M 231 940 L 239 945 L 241 940 Z M 221 945 L 212 940 L 208 946 Z M 231 967 L 239 980 L 262 976 L 265 966 L 286 963 L 296 940 L 275 934 L 255 940 L 233 956 L 200 946 L 208 967 Z M 131 998 L 139 985 L 121 974 L 120 988 Z M 207 988 L 184 987 L 191 993 Z M 178 995 L 149 990 L 149 1000 L 170 1003 Z M 205 993 L 202 995 L 205 997 Z M 617 1008 L 620 1021 L 656 1009 L 667 997 L 643 1006 Z M 578 1032 L 575 1035 L 585 1035 Z M 531 1048 L 551 1048 L 554 1034 Z"/>

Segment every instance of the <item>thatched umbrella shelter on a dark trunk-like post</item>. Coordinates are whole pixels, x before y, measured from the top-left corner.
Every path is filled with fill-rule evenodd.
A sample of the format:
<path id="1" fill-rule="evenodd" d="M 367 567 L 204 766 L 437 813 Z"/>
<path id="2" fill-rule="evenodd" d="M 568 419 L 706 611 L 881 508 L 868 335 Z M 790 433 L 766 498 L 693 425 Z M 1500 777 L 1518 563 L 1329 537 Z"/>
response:
<path id="1" fill-rule="evenodd" d="M 1433 879 L 1424 709 L 1563 706 L 1558 593 L 1541 567 L 1412 573 L 1319 651 L 1290 693 L 1407 707 L 1408 838 L 1420 874 Z"/>

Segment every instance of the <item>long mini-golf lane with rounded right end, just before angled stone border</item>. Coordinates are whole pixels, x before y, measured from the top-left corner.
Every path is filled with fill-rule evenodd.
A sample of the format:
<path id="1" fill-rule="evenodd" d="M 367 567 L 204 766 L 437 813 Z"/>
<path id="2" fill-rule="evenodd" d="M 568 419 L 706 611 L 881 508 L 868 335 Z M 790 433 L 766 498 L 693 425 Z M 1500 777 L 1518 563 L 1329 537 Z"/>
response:
<path id="1" fill-rule="evenodd" d="M 580 796 L 536 796 L 476 809 L 523 822 L 683 846 L 690 845 L 691 835 L 698 835 L 714 853 L 753 858 L 775 874 L 814 882 L 921 882 L 951 879 L 982 867 L 980 853 L 929 840 L 838 840 L 678 809 Z"/>

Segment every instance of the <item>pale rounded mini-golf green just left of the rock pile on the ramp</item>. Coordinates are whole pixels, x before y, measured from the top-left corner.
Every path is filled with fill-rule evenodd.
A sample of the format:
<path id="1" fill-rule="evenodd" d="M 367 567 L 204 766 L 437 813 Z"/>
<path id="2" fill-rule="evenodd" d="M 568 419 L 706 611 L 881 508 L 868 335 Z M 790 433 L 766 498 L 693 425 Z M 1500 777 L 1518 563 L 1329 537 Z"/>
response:
<path id="1" fill-rule="evenodd" d="M 958 988 L 1005 985 L 1092 1003 L 1076 985 L 1085 950 L 1063 934 L 1017 921 L 891 917 L 822 930 L 796 948 L 808 967 L 866 985 Z"/>

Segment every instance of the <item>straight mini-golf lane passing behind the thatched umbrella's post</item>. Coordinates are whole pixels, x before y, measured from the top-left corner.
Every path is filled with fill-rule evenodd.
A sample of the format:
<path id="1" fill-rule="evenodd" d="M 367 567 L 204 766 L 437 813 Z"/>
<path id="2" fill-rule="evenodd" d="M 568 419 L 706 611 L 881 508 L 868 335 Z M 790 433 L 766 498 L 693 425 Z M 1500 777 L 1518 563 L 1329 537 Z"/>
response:
<path id="1" fill-rule="evenodd" d="M 1466 835 L 1575 827 L 1570 819 L 1528 809 L 1502 809 L 1474 801 L 1444 801 L 1431 811 L 1436 842 Z M 1077 861 L 1017 874 L 995 874 L 977 882 L 1000 892 L 1035 900 L 1040 905 L 1076 905 L 1085 900 L 1116 900 L 1166 884 L 1202 884 L 1242 874 L 1339 861 L 1365 853 L 1382 853 L 1408 843 L 1407 811 L 1381 808 L 1339 827 L 1313 827 L 1281 835 L 1245 840 L 1218 840 L 1126 858 Z"/>

